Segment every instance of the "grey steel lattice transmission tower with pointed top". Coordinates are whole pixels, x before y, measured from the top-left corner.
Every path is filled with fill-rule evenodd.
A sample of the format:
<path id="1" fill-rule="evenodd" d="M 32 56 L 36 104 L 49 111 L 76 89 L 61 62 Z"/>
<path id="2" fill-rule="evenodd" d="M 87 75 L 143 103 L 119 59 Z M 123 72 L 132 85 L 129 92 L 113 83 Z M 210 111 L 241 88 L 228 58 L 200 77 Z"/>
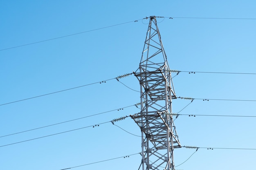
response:
<path id="1" fill-rule="evenodd" d="M 155 16 L 150 16 L 139 69 L 141 112 L 131 115 L 141 129 L 142 170 L 175 170 L 174 148 L 181 148 L 173 123 L 176 99 L 171 72 Z"/>

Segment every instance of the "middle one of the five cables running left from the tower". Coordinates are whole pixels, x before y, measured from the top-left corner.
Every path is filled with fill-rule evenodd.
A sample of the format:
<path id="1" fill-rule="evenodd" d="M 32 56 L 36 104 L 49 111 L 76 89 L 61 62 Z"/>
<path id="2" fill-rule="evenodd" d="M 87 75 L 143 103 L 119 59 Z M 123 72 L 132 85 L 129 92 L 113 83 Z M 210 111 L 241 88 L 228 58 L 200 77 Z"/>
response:
<path id="1" fill-rule="evenodd" d="M 134 104 L 134 105 L 130 105 L 130 106 L 125 106 L 125 107 L 122 107 L 122 108 L 128 108 L 128 107 L 131 107 L 131 106 L 135 106 L 135 104 Z M 0 136 L 0 138 L 1 138 L 1 137 L 11 136 L 11 135 L 16 135 L 16 134 L 23 133 L 23 132 L 29 132 L 29 131 L 37 130 L 37 129 L 41 129 L 41 128 L 46 128 L 46 127 L 54 126 L 54 125 L 58 125 L 58 124 L 64 124 L 64 123 L 67 123 L 67 122 L 70 122 L 70 121 L 75 121 L 75 120 L 79 120 L 79 119 L 84 119 L 84 118 L 87 118 L 87 117 L 92 117 L 92 116 L 96 116 L 96 115 L 101 115 L 101 114 L 103 114 L 103 113 L 109 113 L 109 112 L 112 112 L 112 111 L 115 111 L 115 110 L 120 110 L 120 108 L 114 109 L 114 110 L 108 110 L 108 111 L 101 112 L 101 113 L 97 113 L 97 114 L 94 114 L 94 115 L 89 115 L 89 116 L 85 116 L 85 117 L 80 117 L 80 118 L 77 118 L 77 119 L 72 119 L 72 120 L 68 120 L 68 121 L 63 121 L 63 122 L 59 122 L 59 123 L 56 123 L 56 124 L 51 124 L 51 125 L 47 125 L 47 126 L 42 126 L 42 127 L 39 127 L 39 128 L 34 128 L 34 129 L 29 129 L 29 130 L 25 130 L 25 131 L 21 131 L 21 132 L 16 132 L 16 133 L 12 133 L 12 134 L 9 134 L 9 135 Z"/>

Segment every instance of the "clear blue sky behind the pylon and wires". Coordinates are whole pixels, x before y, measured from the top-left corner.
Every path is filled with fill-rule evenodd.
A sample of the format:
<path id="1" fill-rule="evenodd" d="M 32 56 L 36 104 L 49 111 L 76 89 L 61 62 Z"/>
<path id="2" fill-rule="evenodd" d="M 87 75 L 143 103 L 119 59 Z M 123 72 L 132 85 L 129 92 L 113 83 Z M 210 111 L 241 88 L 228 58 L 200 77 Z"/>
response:
<path id="1" fill-rule="evenodd" d="M 139 112 L 137 78 L 120 79 L 127 88 L 115 77 L 139 67 L 143 18 L 151 15 L 165 17 L 157 25 L 168 63 L 183 71 L 172 74 L 176 95 L 195 98 L 173 101 L 174 113 L 191 103 L 175 125 L 182 146 L 199 147 L 176 149 L 176 169 L 254 169 L 256 150 L 216 148 L 256 148 L 256 117 L 188 115 L 256 116 L 256 102 L 202 100 L 256 100 L 256 75 L 185 71 L 256 73 L 255 7 L 254 0 L 0 1 L 0 169 L 139 168 L 139 127 L 130 117 L 115 122 L 131 135 L 110 121 Z"/>

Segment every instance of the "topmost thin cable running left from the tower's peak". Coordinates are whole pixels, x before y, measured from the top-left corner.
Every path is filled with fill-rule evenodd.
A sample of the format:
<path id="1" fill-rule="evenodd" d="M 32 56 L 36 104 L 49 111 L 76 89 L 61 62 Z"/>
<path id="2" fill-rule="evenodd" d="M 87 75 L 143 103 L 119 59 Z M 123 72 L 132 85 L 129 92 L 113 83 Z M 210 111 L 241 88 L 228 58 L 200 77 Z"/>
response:
<path id="1" fill-rule="evenodd" d="M 140 20 L 142 20 L 142 19 L 140 19 Z M 29 43 L 29 44 L 23 44 L 23 45 L 19 45 L 19 46 L 13 46 L 13 47 L 9 47 L 9 48 L 6 48 L 6 49 L 1 49 L 0 51 L 9 50 L 9 49 L 14 49 L 14 48 L 18 48 L 18 47 L 21 47 L 21 46 L 28 46 L 28 45 L 31 45 L 31 44 L 37 44 L 37 43 L 41 43 L 41 42 L 47 42 L 47 41 L 56 40 L 56 39 L 60 39 L 60 38 L 70 37 L 70 36 L 73 36 L 73 35 L 78 35 L 78 34 L 82 34 L 82 33 L 88 33 L 88 32 L 97 31 L 97 30 L 100 30 L 100 29 L 106 29 L 106 28 L 110 28 L 110 27 L 113 27 L 113 26 L 128 24 L 128 23 L 130 23 L 130 22 L 137 22 L 137 21 L 139 21 L 139 20 L 133 20 L 133 21 L 124 22 L 124 23 L 120 23 L 120 24 L 105 26 L 105 27 L 101 27 L 101 28 L 98 28 L 98 29 L 92 29 L 92 30 L 83 31 L 83 32 L 80 32 L 80 33 L 74 33 L 74 34 L 64 35 L 64 36 L 61 36 L 61 37 L 51 38 L 51 39 L 42 40 L 42 41 L 37 41 L 37 42 L 32 42 L 32 43 Z"/>

